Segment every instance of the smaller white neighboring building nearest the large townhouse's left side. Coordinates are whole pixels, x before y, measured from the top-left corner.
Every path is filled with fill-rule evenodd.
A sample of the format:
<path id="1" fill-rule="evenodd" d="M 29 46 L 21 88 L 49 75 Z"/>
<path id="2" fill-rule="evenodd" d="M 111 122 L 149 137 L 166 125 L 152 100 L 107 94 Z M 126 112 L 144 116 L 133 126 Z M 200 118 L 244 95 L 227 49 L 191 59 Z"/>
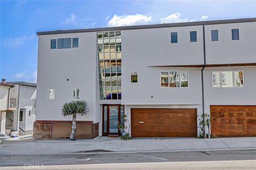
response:
<path id="1" fill-rule="evenodd" d="M 36 120 L 36 83 L 15 81 L 10 94 L 10 108 L 6 113 L 6 129 L 11 135 L 33 134 Z"/>

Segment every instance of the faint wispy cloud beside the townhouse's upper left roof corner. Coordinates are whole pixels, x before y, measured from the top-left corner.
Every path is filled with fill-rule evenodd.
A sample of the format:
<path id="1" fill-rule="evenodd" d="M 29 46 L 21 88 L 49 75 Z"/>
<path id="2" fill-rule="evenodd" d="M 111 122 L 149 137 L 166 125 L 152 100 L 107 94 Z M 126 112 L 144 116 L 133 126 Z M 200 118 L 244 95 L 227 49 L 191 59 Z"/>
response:
<path id="1" fill-rule="evenodd" d="M 5 47 L 21 47 L 28 40 L 36 38 L 35 34 L 31 34 L 30 36 L 20 36 L 16 38 L 5 38 L 3 40 L 3 45 Z"/>

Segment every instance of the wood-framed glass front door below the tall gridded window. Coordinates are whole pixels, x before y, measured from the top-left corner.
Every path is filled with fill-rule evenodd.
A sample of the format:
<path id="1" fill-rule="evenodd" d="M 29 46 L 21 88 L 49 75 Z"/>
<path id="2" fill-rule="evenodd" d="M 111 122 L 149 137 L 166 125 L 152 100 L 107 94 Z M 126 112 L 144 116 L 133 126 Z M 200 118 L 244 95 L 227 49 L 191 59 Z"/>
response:
<path id="1" fill-rule="evenodd" d="M 120 135 L 119 124 L 124 115 L 124 106 L 103 105 L 102 106 L 102 135 Z"/>

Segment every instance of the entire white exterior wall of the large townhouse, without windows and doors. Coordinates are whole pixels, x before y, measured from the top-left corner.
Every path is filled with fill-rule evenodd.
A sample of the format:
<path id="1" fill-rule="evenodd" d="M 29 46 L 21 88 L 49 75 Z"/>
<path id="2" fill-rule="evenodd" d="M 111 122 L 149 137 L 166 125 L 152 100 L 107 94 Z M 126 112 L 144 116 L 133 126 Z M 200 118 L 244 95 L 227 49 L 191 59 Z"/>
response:
<path id="1" fill-rule="evenodd" d="M 206 64 L 256 63 L 253 47 L 256 39 L 255 24 L 205 25 Z M 239 40 L 231 40 L 233 28 L 239 28 Z M 219 41 L 211 41 L 211 30 L 215 29 L 219 30 Z M 197 42 L 190 43 L 190 31 L 197 31 Z M 77 120 L 100 122 L 100 135 L 100 104 L 121 102 L 129 117 L 130 108 L 197 108 L 197 114 L 203 112 L 202 68 L 167 67 L 204 64 L 203 25 L 121 32 L 121 101 L 99 100 L 96 32 L 39 36 L 36 120 L 71 120 L 70 117 L 62 117 L 61 106 L 73 100 L 73 88 L 81 89 L 81 99 L 86 100 L 90 107 L 90 113 Z M 178 43 L 171 43 L 171 32 L 178 32 Z M 76 37 L 79 38 L 78 48 L 50 49 L 51 39 Z M 205 112 L 210 113 L 210 105 L 256 105 L 255 68 L 256 66 L 205 68 Z M 244 87 L 213 88 L 211 72 L 224 70 L 244 71 Z M 131 83 L 131 72 L 134 71 L 138 72 L 138 83 Z M 161 87 L 161 71 L 188 72 L 188 87 Z M 54 100 L 47 99 L 48 89 L 55 89 Z M 241 99 L 237 99 L 237 96 Z"/>

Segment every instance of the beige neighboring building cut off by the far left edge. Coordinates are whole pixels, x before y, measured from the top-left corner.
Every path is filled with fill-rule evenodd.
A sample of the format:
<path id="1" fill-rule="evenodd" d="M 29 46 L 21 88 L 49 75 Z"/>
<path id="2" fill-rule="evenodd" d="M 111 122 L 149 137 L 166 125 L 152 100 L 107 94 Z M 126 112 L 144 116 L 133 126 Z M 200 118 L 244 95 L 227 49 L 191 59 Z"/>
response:
<path id="1" fill-rule="evenodd" d="M 14 84 L 6 83 L 5 79 L 2 79 L 0 83 L 0 116 L 1 116 L 1 133 L 6 134 L 5 122 L 6 122 L 6 112 L 11 111 L 10 109 L 10 89 L 14 87 Z"/>

